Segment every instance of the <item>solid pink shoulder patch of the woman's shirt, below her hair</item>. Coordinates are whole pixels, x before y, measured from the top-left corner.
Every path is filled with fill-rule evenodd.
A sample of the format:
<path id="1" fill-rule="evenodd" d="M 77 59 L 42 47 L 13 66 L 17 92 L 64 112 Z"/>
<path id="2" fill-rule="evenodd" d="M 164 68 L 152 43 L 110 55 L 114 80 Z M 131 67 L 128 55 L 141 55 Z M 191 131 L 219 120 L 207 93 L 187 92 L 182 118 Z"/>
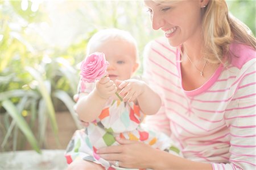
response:
<path id="1" fill-rule="evenodd" d="M 230 44 L 230 53 L 232 55 L 231 64 L 238 69 L 241 69 L 249 61 L 255 62 L 256 51 L 248 45 L 232 43 Z"/>

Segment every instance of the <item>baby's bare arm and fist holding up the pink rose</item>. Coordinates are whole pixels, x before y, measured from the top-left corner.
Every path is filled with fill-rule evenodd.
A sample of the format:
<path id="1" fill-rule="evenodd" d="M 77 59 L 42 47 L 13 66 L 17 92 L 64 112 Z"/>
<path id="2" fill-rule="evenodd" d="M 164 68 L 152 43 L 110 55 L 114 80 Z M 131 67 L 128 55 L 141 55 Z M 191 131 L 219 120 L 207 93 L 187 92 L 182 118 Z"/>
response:
<path id="1" fill-rule="evenodd" d="M 84 122 L 94 121 L 100 114 L 109 97 L 117 92 L 117 86 L 109 77 L 103 77 L 96 82 L 96 88 L 88 95 L 79 97 L 76 112 Z"/>

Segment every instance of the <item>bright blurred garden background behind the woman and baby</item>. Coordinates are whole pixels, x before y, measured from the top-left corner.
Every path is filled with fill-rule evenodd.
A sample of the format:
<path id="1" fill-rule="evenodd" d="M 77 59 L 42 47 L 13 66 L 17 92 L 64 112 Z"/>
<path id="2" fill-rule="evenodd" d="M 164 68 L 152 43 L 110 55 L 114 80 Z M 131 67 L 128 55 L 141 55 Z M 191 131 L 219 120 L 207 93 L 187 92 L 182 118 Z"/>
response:
<path id="1" fill-rule="evenodd" d="M 255 1 L 227 1 L 255 35 Z M 77 64 L 90 37 L 120 28 L 143 47 L 152 31 L 143 1 L 0 1 L 0 151 L 65 149 L 76 128 Z M 137 74 L 141 74 L 141 66 Z"/>

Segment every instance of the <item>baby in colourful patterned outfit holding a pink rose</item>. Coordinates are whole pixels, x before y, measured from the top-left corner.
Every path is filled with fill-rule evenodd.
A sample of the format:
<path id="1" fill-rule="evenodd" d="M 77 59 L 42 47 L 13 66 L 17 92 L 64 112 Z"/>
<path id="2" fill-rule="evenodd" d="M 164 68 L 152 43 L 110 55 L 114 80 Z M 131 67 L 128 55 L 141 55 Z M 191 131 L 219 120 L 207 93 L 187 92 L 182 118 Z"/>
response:
<path id="1" fill-rule="evenodd" d="M 161 100 L 145 82 L 131 79 L 139 66 L 133 36 L 114 28 L 101 30 L 89 40 L 87 56 L 93 52 L 105 53 L 108 74 L 99 81 L 86 83 L 84 92 L 79 92 L 77 114 L 81 121 L 90 123 L 77 130 L 68 144 L 68 169 L 123 169 L 118 161 L 112 164 L 96 154 L 98 148 L 118 145 L 117 136 L 168 152 L 174 149 L 179 154 L 166 135 L 141 127 L 144 115 L 155 114 Z"/>

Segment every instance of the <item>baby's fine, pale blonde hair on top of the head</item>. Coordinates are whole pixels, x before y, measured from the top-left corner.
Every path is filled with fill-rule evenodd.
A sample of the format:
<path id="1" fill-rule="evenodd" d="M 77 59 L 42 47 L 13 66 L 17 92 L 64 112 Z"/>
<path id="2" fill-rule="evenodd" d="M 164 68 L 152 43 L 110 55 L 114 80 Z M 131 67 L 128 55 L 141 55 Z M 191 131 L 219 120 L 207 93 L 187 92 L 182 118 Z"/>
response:
<path id="1" fill-rule="evenodd" d="M 90 53 L 92 52 L 95 52 L 95 49 L 97 49 L 97 47 L 101 45 L 101 43 L 104 43 L 108 40 L 115 40 L 115 39 L 123 40 L 125 42 L 128 42 L 134 45 L 135 52 L 136 52 L 135 57 L 136 57 L 136 61 L 138 61 L 138 48 L 137 48 L 136 40 L 130 34 L 130 32 L 119 30 L 117 28 L 108 28 L 108 29 L 104 29 L 96 32 L 96 34 L 94 34 L 88 42 L 88 45 L 86 47 L 86 56 L 90 55 Z"/>

